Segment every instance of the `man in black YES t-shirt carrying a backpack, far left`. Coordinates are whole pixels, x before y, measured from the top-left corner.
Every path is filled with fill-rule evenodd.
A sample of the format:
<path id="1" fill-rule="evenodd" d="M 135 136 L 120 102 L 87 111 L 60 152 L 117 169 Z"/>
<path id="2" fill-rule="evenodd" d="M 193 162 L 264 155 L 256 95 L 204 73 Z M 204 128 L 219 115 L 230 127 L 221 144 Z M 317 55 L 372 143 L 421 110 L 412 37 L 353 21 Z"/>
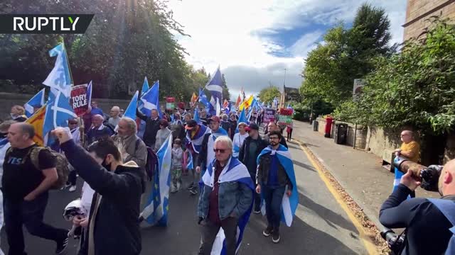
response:
<path id="1" fill-rule="evenodd" d="M 32 235 L 55 241 L 55 254 L 63 254 L 68 230 L 43 222 L 48 190 L 59 181 L 56 159 L 50 150 L 33 142 L 34 136 L 33 125 L 28 123 L 14 123 L 8 130 L 11 148 L 6 152 L 1 183 L 9 254 L 26 254 L 22 225 Z"/>

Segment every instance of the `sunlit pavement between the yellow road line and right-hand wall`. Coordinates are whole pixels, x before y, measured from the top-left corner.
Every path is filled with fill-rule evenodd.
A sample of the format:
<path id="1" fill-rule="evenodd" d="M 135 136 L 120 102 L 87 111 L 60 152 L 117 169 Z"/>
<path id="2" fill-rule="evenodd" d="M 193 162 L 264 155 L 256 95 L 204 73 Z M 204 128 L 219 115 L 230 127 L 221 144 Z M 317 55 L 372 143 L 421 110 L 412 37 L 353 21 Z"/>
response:
<path id="1" fill-rule="evenodd" d="M 382 203 L 392 192 L 394 174 L 381 166 L 382 159 L 372 153 L 337 145 L 313 131 L 310 123 L 294 120 L 293 137 L 304 142 L 319 162 L 333 175 L 345 191 L 363 208 L 365 215 L 381 229 L 378 220 Z M 417 197 L 439 198 L 439 193 L 416 190 Z"/>

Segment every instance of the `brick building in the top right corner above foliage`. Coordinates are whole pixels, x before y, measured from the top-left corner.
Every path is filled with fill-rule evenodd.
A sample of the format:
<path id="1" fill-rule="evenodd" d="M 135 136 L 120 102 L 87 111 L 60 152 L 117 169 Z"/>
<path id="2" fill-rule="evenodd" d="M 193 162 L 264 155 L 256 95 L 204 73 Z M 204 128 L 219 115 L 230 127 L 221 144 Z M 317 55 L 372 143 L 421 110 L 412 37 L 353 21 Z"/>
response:
<path id="1" fill-rule="evenodd" d="M 429 26 L 431 16 L 455 20 L 455 0 L 408 0 L 404 40 L 415 38 Z"/>

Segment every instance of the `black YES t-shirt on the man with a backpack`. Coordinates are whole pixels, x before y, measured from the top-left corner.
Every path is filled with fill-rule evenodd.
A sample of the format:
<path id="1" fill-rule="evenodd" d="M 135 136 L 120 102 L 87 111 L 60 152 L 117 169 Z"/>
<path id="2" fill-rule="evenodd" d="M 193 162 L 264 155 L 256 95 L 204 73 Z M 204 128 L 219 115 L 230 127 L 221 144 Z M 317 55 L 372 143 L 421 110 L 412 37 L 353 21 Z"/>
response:
<path id="1" fill-rule="evenodd" d="M 42 149 L 38 154 L 40 169 L 36 169 L 30 157 L 33 147 L 38 147 L 38 145 L 25 149 L 11 149 L 6 155 L 3 164 L 3 179 L 1 179 L 5 197 L 22 199 L 43 181 L 44 175 L 41 170 L 55 167 L 55 158 L 47 149 Z"/>

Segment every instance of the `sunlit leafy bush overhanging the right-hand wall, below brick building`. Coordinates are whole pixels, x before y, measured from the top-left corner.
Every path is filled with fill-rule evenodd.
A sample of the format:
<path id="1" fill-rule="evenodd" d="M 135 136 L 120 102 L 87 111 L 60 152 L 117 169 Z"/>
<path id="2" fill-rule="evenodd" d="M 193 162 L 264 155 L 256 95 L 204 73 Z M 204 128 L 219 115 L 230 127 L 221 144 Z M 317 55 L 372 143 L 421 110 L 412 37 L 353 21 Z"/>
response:
<path id="1" fill-rule="evenodd" d="M 376 60 L 359 101 L 336 111 L 343 120 L 434 135 L 455 125 L 455 26 L 435 21 L 426 37 L 406 42 L 400 54 Z"/>

